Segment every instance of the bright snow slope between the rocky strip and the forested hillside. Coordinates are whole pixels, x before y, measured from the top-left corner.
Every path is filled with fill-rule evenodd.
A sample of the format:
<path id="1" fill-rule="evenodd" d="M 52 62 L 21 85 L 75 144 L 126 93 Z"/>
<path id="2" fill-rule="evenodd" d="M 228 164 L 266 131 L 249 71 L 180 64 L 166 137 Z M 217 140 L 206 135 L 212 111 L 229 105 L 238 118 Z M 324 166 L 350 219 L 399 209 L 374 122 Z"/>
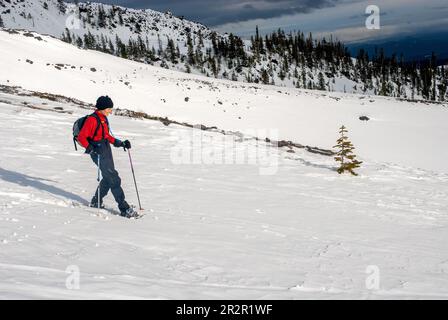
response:
<path id="1" fill-rule="evenodd" d="M 0 55 L 0 84 L 325 149 L 344 124 L 363 159 L 448 172 L 446 104 L 215 80 L 24 32 L 0 31 Z"/>

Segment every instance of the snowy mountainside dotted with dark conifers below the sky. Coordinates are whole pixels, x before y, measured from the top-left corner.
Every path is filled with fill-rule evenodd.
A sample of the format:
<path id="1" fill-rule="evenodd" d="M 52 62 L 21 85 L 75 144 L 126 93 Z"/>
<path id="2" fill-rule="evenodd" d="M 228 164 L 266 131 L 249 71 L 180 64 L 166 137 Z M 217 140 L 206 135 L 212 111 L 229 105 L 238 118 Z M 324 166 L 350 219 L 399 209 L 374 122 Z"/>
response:
<path id="1" fill-rule="evenodd" d="M 403 65 L 398 56 L 360 51 L 350 57 L 333 40 L 316 41 L 303 33 L 273 33 L 251 40 L 219 34 L 171 13 L 99 3 L 57 0 L 0 0 L 8 28 L 34 30 L 163 68 L 240 82 L 282 87 L 380 94 L 446 101 L 448 72 L 436 57 L 426 65 Z"/>

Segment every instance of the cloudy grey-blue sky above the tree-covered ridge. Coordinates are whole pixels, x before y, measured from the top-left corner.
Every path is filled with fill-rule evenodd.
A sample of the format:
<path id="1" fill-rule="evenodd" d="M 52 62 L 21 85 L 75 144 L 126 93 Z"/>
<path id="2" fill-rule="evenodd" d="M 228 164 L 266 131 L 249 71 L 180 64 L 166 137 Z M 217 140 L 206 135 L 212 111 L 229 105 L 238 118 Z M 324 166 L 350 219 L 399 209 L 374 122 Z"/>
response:
<path id="1" fill-rule="evenodd" d="M 97 0 L 132 8 L 170 10 L 220 32 L 250 36 L 282 28 L 344 42 L 448 31 L 448 0 Z M 381 29 L 368 30 L 365 11 L 377 5 Z"/>

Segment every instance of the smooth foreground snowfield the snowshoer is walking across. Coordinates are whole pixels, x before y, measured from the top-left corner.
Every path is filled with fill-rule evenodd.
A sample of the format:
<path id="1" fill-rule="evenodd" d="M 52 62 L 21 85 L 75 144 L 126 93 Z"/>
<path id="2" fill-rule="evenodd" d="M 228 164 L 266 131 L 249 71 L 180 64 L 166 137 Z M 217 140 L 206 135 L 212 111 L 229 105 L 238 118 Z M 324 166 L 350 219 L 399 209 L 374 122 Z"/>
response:
<path id="1" fill-rule="evenodd" d="M 191 129 L 112 116 L 115 135 L 133 143 L 146 209 L 127 220 L 83 206 L 96 170 L 69 129 L 86 110 L 5 93 L 0 101 L 2 299 L 448 297 L 446 174 L 367 161 L 360 177 L 339 176 L 329 157 L 238 139 L 236 149 L 275 159 L 276 173 L 179 165 L 172 151 Z M 114 156 L 136 204 L 128 156 Z M 110 195 L 106 205 L 115 206 Z"/>

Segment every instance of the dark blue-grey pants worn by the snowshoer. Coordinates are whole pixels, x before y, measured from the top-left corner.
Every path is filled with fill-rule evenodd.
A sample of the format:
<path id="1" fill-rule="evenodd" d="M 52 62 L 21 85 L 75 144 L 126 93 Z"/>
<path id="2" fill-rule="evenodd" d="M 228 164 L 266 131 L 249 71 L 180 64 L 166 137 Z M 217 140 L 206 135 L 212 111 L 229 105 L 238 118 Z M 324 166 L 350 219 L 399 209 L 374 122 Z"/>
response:
<path id="1" fill-rule="evenodd" d="M 120 212 L 124 212 L 129 208 L 129 204 L 125 200 L 124 191 L 121 188 L 121 179 L 115 170 L 114 159 L 112 157 L 112 150 L 110 143 L 107 140 L 98 142 L 91 142 L 97 147 L 100 157 L 100 170 L 102 179 L 98 186 L 100 194 L 100 203 L 103 203 L 103 198 L 107 195 L 109 190 L 112 192 L 115 201 L 118 204 Z M 98 154 L 90 154 L 93 162 L 98 166 Z M 93 196 L 92 203 L 98 204 L 98 188 Z"/>

